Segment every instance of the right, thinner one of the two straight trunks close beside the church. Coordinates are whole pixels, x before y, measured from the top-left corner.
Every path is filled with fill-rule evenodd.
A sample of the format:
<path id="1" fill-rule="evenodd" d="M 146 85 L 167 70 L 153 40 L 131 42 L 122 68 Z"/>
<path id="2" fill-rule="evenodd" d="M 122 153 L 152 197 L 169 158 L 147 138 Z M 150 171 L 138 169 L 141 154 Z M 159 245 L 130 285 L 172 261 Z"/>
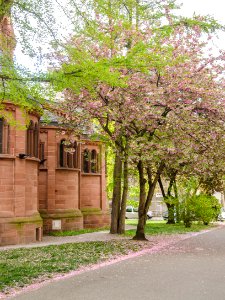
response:
<path id="1" fill-rule="evenodd" d="M 123 167 L 123 195 L 119 214 L 119 227 L 118 233 L 123 234 L 125 232 L 125 215 L 126 215 L 126 205 L 128 196 L 128 157 L 125 156 L 124 167 Z"/>

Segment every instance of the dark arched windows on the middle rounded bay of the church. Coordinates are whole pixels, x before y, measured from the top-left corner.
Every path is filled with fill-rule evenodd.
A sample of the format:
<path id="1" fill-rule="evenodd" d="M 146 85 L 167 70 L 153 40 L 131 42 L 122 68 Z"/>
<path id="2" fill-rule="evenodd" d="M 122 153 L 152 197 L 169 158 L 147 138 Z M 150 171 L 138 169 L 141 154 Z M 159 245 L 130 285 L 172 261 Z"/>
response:
<path id="1" fill-rule="evenodd" d="M 77 168 L 77 145 L 61 140 L 59 145 L 59 166 L 62 168 Z"/>

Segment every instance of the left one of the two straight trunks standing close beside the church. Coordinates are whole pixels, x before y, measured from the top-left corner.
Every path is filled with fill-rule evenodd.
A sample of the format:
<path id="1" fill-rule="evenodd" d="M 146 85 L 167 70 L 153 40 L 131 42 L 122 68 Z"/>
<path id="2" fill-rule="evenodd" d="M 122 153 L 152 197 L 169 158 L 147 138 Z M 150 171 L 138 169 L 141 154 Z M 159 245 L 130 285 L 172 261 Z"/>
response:
<path id="1" fill-rule="evenodd" d="M 122 161 L 119 153 L 115 155 L 115 164 L 113 171 L 113 197 L 112 197 L 112 213 L 111 213 L 111 227 L 110 233 L 118 232 L 118 220 L 121 201 L 121 175 L 122 175 Z"/>

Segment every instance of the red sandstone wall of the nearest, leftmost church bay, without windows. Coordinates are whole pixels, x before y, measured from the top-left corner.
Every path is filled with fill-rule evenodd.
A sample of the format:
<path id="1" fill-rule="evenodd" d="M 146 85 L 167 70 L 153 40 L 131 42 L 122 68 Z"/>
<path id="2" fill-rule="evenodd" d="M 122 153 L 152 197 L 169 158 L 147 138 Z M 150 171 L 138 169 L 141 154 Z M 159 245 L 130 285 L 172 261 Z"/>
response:
<path id="1" fill-rule="evenodd" d="M 0 154 L 0 245 L 35 242 L 41 239 L 42 220 L 37 210 L 38 159 L 20 159 L 26 153 L 25 116 L 12 104 L 13 114 L 23 128 L 10 127 L 10 151 Z M 35 115 L 27 116 L 38 122 Z"/>

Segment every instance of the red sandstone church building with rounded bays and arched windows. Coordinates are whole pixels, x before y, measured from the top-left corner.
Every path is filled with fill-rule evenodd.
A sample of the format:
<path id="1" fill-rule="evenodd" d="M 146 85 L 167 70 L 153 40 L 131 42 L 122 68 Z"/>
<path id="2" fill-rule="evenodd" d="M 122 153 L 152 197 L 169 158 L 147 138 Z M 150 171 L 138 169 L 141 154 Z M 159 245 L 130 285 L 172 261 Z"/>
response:
<path id="1" fill-rule="evenodd" d="M 77 138 L 68 152 L 57 126 L 42 126 L 38 114 L 11 103 L 5 111 L 29 125 L 0 118 L 0 245 L 108 225 L 103 145 Z"/>

